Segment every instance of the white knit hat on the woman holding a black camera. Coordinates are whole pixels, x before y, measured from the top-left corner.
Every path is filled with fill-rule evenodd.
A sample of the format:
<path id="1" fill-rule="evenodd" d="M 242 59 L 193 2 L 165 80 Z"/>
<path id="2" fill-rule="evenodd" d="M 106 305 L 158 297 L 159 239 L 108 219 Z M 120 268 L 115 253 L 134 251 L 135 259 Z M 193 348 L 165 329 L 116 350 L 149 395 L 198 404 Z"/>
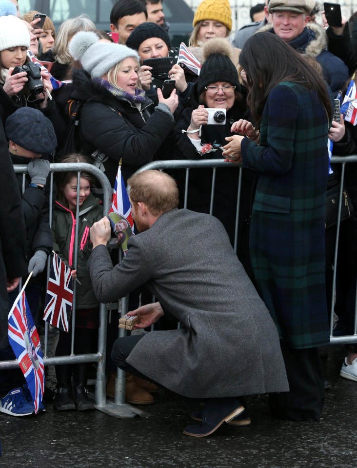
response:
<path id="1" fill-rule="evenodd" d="M 0 16 L 0 51 L 18 46 L 30 47 L 26 24 L 16 16 Z"/>

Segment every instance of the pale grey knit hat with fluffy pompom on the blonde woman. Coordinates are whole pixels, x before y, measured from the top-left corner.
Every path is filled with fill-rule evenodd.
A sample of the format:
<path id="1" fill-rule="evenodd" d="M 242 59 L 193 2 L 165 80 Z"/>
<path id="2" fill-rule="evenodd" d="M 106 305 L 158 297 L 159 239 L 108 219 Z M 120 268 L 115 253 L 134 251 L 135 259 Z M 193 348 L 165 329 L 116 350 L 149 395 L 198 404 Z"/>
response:
<path id="1" fill-rule="evenodd" d="M 93 31 L 80 31 L 73 36 L 68 46 L 69 53 L 79 60 L 92 78 L 101 78 L 120 61 L 133 57 L 139 61 L 138 53 L 126 45 L 99 42 Z"/>

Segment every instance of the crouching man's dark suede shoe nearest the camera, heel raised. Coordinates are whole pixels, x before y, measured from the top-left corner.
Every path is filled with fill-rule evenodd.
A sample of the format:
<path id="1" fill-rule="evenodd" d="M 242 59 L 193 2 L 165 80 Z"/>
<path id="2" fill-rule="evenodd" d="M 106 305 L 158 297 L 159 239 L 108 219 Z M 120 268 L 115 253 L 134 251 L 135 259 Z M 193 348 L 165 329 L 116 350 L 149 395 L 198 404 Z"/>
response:
<path id="1" fill-rule="evenodd" d="M 238 398 L 208 398 L 202 411 L 202 422 L 198 426 L 187 426 L 185 435 L 207 437 L 213 434 L 224 422 L 228 423 L 244 411 Z"/>

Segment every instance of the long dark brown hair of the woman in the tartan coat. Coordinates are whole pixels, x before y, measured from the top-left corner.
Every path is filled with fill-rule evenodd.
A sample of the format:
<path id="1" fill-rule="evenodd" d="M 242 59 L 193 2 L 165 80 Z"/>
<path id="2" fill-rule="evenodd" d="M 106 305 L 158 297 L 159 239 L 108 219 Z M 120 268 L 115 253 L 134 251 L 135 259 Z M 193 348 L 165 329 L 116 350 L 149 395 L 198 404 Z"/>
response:
<path id="1" fill-rule="evenodd" d="M 257 126 L 270 91 L 280 81 L 291 81 L 315 91 L 332 118 L 327 84 L 298 52 L 275 34 L 257 33 L 249 38 L 239 54 L 239 65 L 247 74 L 247 102 Z"/>

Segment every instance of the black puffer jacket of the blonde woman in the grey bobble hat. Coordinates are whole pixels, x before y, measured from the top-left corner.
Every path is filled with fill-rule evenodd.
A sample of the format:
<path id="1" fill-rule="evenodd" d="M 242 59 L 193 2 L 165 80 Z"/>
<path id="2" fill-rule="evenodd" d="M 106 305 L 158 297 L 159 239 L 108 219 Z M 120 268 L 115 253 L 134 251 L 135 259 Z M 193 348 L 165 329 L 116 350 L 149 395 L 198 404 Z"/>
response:
<path id="1" fill-rule="evenodd" d="M 74 71 L 73 86 L 85 102 L 79 120 L 83 152 L 90 156 L 98 149 L 108 157 L 104 168 L 112 186 L 120 159 L 125 182 L 153 159 L 169 159 L 172 142 L 169 145 L 165 140 L 173 132 L 173 116 L 155 108 L 148 98 L 139 110 L 134 103 L 115 97 L 92 81 L 83 70 Z"/>

